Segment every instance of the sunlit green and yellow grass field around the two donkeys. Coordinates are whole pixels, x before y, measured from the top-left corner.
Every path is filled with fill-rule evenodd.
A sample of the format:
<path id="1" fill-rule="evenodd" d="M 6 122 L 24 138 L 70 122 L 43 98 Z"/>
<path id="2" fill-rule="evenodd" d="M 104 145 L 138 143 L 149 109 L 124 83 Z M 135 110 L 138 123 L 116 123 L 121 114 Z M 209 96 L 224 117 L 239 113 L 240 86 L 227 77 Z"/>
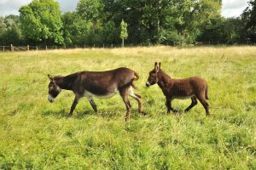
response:
<path id="1" fill-rule="evenodd" d="M 145 87 L 154 62 L 171 77 L 199 76 L 209 84 L 202 105 L 174 100 L 166 114 L 158 86 Z M 48 77 L 129 67 L 147 116 L 133 106 L 125 123 L 119 95 L 81 99 L 67 118 L 73 93 L 49 103 Z M 0 53 L 0 169 L 256 169 L 256 47 L 113 48 Z"/>

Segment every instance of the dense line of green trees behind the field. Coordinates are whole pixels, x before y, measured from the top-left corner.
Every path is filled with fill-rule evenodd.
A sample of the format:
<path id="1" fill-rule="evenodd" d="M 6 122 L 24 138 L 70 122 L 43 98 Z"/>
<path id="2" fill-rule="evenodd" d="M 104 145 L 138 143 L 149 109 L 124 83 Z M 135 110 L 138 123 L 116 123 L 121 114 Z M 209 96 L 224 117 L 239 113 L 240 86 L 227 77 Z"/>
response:
<path id="1" fill-rule="evenodd" d="M 221 0 L 79 0 L 65 14 L 54 0 L 33 0 L 19 16 L 0 17 L 0 44 L 102 45 L 120 44 L 121 38 L 133 44 L 256 42 L 255 3 L 225 19 Z"/>

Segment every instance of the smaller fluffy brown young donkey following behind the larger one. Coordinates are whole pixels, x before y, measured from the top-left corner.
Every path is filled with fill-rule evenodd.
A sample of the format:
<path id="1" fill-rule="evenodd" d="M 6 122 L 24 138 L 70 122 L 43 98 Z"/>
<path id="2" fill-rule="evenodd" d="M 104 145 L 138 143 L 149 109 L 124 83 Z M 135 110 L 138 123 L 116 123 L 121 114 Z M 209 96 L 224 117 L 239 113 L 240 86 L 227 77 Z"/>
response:
<path id="1" fill-rule="evenodd" d="M 201 105 L 204 106 L 207 116 L 210 115 L 209 105 L 207 103 L 207 89 L 208 85 L 205 80 L 201 77 L 189 77 L 184 79 L 172 79 L 164 71 L 160 69 L 160 63 L 155 62 L 154 69 L 149 72 L 148 82 L 146 86 L 154 85 L 157 83 L 162 89 L 163 93 L 166 96 L 166 107 L 167 113 L 170 111 L 177 112 L 172 108 L 173 99 L 191 99 L 192 103 L 185 110 L 189 111 L 195 105 L 197 105 L 197 100 L 201 102 Z"/>

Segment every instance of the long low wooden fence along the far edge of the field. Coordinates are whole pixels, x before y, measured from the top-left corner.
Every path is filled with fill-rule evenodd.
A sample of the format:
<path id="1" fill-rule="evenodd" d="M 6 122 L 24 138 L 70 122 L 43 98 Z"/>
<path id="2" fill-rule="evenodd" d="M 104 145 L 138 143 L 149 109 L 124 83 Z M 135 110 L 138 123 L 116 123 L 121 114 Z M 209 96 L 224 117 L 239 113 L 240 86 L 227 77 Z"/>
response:
<path id="1" fill-rule="evenodd" d="M 129 43 L 125 44 L 125 47 L 150 47 L 154 46 L 156 44 L 152 43 Z M 247 43 L 247 44 L 221 44 L 218 42 L 195 42 L 194 44 L 161 44 L 161 45 L 166 45 L 166 46 L 177 46 L 177 47 L 193 47 L 193 46 L 212 46 L 212 45 L 218 45 L 218 46 L 229 46 L 229 45 L 256 45 L 252 43 Z M 14 46 L 14 45 L 9 45 L 9 46 L 0 46 L 0 52 L 6 52 L 6 51 L 35 51 L 35 50 L 52 50 L 52 49 L 74 49 L 74 48 L 121 48 L 122 44 L 102 44 L 102 45 L 74 45 L 74 46 L 57 46 L 57 45 L 39 45 L 39 46 L 32 46 L 32 45 L 26 45 L 26 46 Z"/>

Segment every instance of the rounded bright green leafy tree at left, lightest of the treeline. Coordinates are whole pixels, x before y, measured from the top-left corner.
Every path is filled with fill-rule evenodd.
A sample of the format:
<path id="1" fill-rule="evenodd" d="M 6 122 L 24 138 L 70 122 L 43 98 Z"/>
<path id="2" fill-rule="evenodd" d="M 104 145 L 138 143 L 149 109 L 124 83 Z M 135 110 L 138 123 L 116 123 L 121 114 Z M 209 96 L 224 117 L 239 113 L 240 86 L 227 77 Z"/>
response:
<path id="1" fill-rule="evenodd" d="M 21 30 L 36 42 L 63 44 L 61 9 L 54 0 L 33 0 L 20 8 Z"/>

